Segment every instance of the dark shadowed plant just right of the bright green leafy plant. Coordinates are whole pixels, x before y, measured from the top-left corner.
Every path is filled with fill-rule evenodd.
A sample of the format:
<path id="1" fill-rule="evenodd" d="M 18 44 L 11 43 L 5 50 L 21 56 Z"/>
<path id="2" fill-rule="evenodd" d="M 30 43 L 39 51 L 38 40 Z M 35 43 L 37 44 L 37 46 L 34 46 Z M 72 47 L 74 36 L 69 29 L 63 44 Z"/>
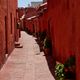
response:
<path id="1" fill-rule="evenodd" d="M 75 80 L 75 56 L 70 56 L 64 63 L 65 78 Z"/>

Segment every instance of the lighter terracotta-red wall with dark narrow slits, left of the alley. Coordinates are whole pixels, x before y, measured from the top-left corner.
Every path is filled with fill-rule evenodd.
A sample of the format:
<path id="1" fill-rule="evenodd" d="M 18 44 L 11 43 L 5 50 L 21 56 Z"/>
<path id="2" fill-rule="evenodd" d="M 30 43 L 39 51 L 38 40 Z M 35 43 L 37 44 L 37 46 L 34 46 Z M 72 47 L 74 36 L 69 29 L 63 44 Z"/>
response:
<path id="1" fill-rule="evenodd" d="M 0 0 L 0 67 L 14 48 L 17 0 Z"/>

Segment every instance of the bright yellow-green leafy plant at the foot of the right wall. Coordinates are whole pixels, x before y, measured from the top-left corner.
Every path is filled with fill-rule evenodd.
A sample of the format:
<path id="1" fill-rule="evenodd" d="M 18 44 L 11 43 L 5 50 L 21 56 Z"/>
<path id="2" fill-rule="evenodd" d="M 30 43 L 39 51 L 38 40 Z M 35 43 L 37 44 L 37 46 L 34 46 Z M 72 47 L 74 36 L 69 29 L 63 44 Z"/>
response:
<path id="1" fill-rule="evenodd" d="M 55 76 L 57 80 L 64 80 L 64 65 L 59 63 L 55 66 Z"/>

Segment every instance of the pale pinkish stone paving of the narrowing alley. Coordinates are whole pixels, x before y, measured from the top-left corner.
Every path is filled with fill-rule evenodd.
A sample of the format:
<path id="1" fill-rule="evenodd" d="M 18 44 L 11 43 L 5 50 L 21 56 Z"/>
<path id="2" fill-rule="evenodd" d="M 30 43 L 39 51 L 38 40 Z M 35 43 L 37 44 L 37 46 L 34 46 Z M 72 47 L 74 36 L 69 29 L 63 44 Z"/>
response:
<path id="1" fill-rule="evenodd" d="M 0 71 L 0 80 L 55 80 L 35 38 L 21 32 L 23 48 L 15 48 Z"/>

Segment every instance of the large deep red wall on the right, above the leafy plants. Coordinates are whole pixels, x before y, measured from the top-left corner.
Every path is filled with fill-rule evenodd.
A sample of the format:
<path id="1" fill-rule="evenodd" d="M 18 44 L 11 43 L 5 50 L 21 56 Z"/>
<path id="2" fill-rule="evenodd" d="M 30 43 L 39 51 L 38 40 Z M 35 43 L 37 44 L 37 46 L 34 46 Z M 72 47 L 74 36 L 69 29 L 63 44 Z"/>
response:
<path id="1" fill-rule="evenodd" d="M 74 37 L 75 31 L 73 26 L 72 1 L 49 0 L 49 17 L 51 23 L 51 34 L 53 48 L 55 48 L 56 60 L 64 62 L 70 55 L 74 54 Z M 54 49 L 53 49 L 54 50 Z M 54 52 L 54 51 L 53 51 Z M 54 55 L 54 54 L 53 54 Z"/>

